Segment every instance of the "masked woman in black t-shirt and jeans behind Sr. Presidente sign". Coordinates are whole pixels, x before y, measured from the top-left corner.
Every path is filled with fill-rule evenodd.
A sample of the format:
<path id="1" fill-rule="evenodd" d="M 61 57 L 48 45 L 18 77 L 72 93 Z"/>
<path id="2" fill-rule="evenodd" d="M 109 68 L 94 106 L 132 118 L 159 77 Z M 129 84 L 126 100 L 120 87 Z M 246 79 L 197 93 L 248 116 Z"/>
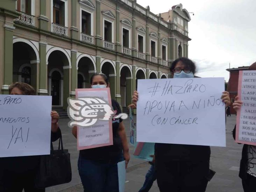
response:
<path id="1" fill-rule="evenodd" d="M 92 88 L 109 87 L 105 74 L 95 73 L 91 77 Z M 116 115 L 122 113 L 118 102 L 111 100 Z M 119 192 L 117 163 L 129 162 L 129 147 L 122 119 L 112 119 L 113 145 L 79 151 L 78 171 L 86 192 Z M 77 127 L 73 127 L 77 138 Z"/>

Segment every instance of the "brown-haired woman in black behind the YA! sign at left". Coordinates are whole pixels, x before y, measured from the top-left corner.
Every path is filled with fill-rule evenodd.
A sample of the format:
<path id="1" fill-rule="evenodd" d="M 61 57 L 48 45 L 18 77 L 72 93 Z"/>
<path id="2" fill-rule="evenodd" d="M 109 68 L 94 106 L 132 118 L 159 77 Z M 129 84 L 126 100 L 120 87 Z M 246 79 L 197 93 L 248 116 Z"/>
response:
<path id="1" fill-rule="evenodd" d="M 32 86 L 26 83 L 14 83 L 9 87 L 10 95 L 35 95 Z M 21 109 L 22 110 L 26 109 Z M 51 114 L 51 141 L 56 141 L 61 132 L 58 126 L 59 114 Z M 40 118 L 40 117 L 38 117 Z M 35 177 L 39 170 L 40 156 L 2 157 L 0 158 L 0 191 L 4 192 L 44 192 L 35 188 Z"/>

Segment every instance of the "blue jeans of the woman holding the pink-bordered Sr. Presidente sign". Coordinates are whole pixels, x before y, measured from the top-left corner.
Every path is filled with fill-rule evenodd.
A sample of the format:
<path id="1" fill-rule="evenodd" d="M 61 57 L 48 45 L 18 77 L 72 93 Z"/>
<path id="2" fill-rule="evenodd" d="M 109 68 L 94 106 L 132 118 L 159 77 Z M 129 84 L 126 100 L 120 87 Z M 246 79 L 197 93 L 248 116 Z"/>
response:
<path id="1" fill-rule="evenodd" d="M 78 158 L 78 171 L 85 192 L 119 192 L 117 163 L 123 161 L 123 155 L 116 162 L 98 162 Z"/>

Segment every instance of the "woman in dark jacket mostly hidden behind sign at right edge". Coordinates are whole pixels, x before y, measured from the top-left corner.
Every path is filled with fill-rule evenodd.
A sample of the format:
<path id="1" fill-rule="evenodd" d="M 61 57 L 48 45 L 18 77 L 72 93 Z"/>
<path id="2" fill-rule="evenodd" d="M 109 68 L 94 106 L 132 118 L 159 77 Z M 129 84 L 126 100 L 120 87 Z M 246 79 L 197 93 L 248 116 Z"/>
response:
<path id="1" fill-rule="evenodd" d="M 249 67 L 249 70 L 256 70 L 256 62 Z M 242 104 L 240 98 L 236 96 L 235 102 L 233 103 L 233 108 L 236 112 L 239 111 Z M 234 139 L 235 136 L 236 126 L 233 130 Z M 242 179 L 244 192 L 256 191 L 256 146 L 248 144 L 243 145 L 239 177 Z"/>

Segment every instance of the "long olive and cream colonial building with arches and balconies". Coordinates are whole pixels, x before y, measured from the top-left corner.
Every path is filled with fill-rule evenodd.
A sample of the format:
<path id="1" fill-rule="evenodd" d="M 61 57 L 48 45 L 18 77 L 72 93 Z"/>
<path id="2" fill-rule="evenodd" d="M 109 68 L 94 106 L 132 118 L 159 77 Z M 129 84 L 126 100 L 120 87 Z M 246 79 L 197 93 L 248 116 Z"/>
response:
<path id="1" fill-rule="evenodd" d="M 169 65 L 188 56 L 189 21 L 182 4 L 155 15 L 136 0 L 3 0 L 1 93 L 25 82 L 66 107 L 76 88 L 103 72 L 125 107 L 137 79 L 169 78 Z"/>

